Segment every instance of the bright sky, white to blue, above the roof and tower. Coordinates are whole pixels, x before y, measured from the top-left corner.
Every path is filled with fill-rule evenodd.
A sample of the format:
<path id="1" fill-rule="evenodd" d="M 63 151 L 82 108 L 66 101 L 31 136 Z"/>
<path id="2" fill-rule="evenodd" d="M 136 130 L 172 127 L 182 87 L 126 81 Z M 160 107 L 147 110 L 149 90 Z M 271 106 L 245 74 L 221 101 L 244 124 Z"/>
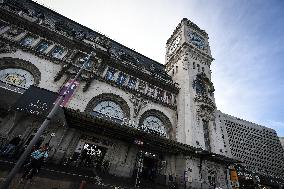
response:
<path id="1" fill-rule="evenodd" d="M 209 35 L 219 110 L 284 136 L 283 0 L 37 0 L 137 52 L 165 63 L 182 18 Z"/>

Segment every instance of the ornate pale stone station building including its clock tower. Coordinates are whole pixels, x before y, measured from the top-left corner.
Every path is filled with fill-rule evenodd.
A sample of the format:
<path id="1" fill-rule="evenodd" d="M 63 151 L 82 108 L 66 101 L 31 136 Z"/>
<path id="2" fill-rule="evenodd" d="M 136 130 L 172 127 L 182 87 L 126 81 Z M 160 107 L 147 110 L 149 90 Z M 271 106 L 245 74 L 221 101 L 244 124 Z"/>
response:
<path id="1" fill-rule="evenodd" d="M 216 109 L 208 35 L 183 19 L 167 49 L 163 65 L 35 2 L 1 1 L 1 144 L 21 134 L 23 147 L 43 121 L 13 110 L 21 94 L 30 85 L 59 92 L 93 52 L 64 116 L 39 141 L 52 147 L 50 162 L 232 188 L 236 161 Z"/>

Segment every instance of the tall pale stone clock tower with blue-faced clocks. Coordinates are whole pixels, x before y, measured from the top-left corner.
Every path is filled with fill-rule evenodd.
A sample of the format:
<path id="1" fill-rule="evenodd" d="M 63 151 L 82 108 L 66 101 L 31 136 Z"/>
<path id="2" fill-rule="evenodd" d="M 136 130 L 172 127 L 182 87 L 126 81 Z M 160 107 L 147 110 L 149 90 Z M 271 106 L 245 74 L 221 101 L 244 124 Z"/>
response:
<path id="1" fill-rule="evenodd" d="M 179 84 L 177 141 L 223 154 L 221 131 L 215 124 L 213 61 L 208 34 L 184 18 L 167 41 L 166 70 Z"/>

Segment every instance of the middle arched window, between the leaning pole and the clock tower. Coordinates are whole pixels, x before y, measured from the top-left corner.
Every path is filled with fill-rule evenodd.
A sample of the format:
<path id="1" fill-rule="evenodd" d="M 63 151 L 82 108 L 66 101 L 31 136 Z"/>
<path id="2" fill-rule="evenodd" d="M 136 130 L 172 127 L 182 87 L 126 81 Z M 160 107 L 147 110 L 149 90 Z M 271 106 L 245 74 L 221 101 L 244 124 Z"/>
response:
<path id="1" fill-rule="evenodd" d="M 110 100 L 102 101 L 97 104 L 93 109 L 93 112 L 100 113 L 119 120 L 122 120 L 124 118 L 124 113 L 121 107 L 117 103 Z"/>

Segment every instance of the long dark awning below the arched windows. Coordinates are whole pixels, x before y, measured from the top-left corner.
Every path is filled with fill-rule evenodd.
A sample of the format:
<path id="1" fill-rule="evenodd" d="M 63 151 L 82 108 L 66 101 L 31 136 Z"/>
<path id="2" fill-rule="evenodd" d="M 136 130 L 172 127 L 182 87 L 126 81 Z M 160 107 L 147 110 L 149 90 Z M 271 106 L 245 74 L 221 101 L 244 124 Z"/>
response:
<path id="1" fill-rule="evenodd" d="M 142 148 L 161 153 L 182 154 L 185 156 L 203 157 L 219 163 L 234 163 L 234 159 L 219 154 L 209 153 L 193 146 L 183 144 L 159 135 L 153 135 L 124 125 L 122 122 L 93 116 L 78 110 L 64 109 L 69 127 L 93 132 L 107 137 L 134 144 L 135 140 L 143 141 Z M 200 153 L 202 152 L 202 153 Z"/>

